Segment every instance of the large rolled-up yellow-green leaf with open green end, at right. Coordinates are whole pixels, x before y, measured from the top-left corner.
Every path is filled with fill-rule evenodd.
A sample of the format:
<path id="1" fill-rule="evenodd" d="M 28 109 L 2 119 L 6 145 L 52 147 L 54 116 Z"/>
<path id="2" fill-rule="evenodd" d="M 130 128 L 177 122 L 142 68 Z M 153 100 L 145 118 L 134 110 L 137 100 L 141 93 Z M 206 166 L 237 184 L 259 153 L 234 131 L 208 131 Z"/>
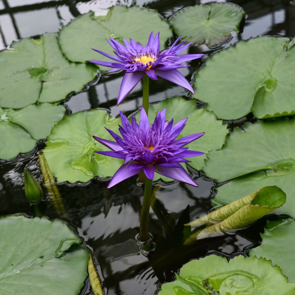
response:
<path id="1" fill-rule="evenodd" d="M 201 226 L 213 224 L 193 233 L 185 242 L 223 235 L 227 231 L 240 229 L 260 219 L 286 202 L 286 194 L 277 186 L 266 186 L 254 193 L 234 201 L 204 217 L 185 225 Z"/>

